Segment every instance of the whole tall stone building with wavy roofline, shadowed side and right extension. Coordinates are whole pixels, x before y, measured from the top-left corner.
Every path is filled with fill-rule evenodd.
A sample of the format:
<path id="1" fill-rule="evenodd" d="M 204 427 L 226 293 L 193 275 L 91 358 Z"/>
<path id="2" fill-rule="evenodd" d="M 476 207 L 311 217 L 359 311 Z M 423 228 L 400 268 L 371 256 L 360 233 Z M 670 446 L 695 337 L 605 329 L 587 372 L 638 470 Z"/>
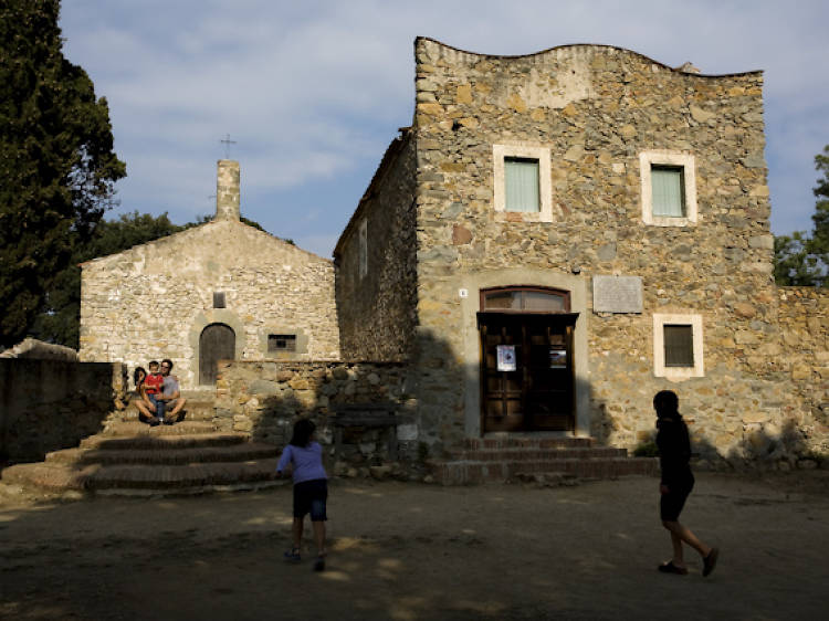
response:
<path id="1" fill-rule="evenodd" d="M 342 355 L 409 361 L 420 441 L 632 448 L 670 388 L 703 454 L 826 448 L 828 298 L 773 281 L 762 72 L 414 52 L 335 263 Z"/>

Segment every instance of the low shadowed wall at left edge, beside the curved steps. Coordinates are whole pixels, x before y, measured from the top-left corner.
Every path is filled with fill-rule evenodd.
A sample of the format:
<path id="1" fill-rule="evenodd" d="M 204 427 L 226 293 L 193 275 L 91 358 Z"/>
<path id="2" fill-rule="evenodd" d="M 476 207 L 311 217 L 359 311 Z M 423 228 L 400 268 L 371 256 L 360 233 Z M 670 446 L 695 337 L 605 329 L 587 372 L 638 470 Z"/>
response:
<path id="1" fill-rule="evenodd" d="M 101 430 L 123 400 L 120 364 L 0 359 L 0 459 L 40 461 Z"/>

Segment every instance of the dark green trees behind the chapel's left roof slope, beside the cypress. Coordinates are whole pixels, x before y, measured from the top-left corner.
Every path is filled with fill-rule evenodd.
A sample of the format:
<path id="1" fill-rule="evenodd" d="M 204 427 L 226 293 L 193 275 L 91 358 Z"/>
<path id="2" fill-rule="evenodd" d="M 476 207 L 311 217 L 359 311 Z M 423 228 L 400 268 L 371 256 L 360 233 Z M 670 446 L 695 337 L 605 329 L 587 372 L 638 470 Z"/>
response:
<path id="1" fill-rule="evenodd" d="M 167 213 L 154 218 L 148 213 L 122 213 L 116 220 L 101 220 L 92 238 L 83 241 L 72 234 L 73 252 L 70 264 L 50 281 L 44 305 L 32 327 L 32 334 L 49 343 L 77 348 L 81 324 L 81 267 L 80 263 L 97 256 L 115 254 L 183 231 L 170 222 Z"/>

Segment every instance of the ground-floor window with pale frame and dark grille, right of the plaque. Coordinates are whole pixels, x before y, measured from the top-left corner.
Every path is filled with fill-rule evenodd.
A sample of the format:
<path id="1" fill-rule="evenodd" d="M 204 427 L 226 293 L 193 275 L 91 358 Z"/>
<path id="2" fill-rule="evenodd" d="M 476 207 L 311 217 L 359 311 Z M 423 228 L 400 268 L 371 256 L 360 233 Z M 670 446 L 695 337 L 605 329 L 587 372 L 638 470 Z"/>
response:
<path id="1" fill-rule="evenodd" d="M 654 313 L 653 375 L 668 379 L 705 375 L 701 315 Z"/>

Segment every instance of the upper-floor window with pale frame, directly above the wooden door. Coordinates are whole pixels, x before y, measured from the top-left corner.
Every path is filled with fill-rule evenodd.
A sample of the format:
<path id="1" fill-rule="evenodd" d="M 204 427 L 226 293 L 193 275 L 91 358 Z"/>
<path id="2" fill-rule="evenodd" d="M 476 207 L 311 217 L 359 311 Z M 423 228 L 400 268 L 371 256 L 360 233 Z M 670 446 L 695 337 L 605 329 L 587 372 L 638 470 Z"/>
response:
<path id="1" fill-rule="evenodd" d="M 549 148 L 493 145 L 492 155 L 495 211 L 521 213 L 528 222 L 552 222 Z"/>

